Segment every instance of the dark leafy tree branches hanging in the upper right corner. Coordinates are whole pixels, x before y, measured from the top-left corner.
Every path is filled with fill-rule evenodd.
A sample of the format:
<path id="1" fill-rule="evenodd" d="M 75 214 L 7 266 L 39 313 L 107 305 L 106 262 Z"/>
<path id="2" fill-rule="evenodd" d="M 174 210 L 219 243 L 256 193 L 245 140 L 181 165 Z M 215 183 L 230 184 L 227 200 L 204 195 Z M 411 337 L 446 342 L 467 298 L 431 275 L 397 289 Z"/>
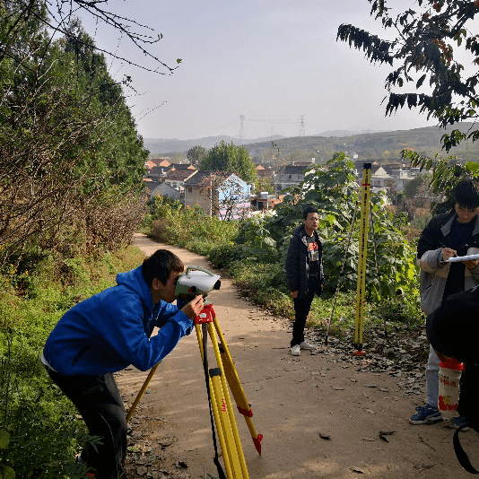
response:
<path id="1" fill-rule="evenodd" d="M 479 2 L 416 0 L 411 8 L 393 17 L 388 4 L 394 1 L 368 1 L 371 16 L 374 15 L 385 30 L 394 30 L 394 39 L 379 39 L 350 24 L 339 27 L 337 39 L 363 50 L 370 62 L 392 67 L 386 78 L 389 92 L 386 114 L 407 106 L 419 108 L 427 118 L 436 118 L 444 128 L 460 121 L 476 121 L 479 35 L 473 21 L 479 13 Z M 472 65 L 470 69 L 469 65 Z M 414 91 L 398 92 L 407 84 L 411 84 Z M 465 139 L 478 140 L 479 130 L 455 129 L 450 135 L 443 135 L 441 142 L 449 152 Z"/>

